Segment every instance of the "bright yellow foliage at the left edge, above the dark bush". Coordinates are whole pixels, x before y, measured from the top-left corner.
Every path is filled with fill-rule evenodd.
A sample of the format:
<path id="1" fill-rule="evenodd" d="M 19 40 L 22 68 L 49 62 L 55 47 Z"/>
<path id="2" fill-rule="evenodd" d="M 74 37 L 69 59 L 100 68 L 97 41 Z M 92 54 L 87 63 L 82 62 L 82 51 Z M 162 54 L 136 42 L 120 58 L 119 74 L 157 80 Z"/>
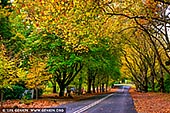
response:
<path id="1" fill-rule="evenodd" d="M 17 58 L 9 58 L 6 52 L 5 46 L 0 45 L 0 89 L 18 82 L 18 77 L 24 75 L 24 71 L 16 65 Z"/>

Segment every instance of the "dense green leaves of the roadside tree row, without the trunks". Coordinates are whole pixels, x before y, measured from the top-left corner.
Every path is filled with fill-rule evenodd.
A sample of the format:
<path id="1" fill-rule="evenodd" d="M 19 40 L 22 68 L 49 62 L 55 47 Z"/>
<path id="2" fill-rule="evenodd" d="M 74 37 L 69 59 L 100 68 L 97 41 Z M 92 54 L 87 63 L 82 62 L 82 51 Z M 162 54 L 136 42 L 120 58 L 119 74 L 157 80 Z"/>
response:
<path id="1" fill-rule="evenodd" d="M 91 46 L 88 55 L 86 62 L 90 70 L 97 70 L 100 75 L 108 75 L 112 79 L 120 76 L 119 54 L 111 49 L 107 38 L 101 39 L 97 45 Z"/>

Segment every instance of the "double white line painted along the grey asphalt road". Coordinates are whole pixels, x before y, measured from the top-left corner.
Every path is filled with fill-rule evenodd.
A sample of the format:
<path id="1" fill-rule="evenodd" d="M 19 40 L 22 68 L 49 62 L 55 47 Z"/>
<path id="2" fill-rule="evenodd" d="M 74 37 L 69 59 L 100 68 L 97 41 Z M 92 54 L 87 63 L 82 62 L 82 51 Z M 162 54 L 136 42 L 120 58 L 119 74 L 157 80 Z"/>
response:
<path id="1" fill-rule="evenodd" d="M 83 107 L 83 108 L 81 108 L 81 109 L 78 109 L 78 110 L 74 111 L 73 113 L 82 113 L 82 112 L 86 111 L 87 109 L 89 109 L 89 108 L 95 106 L 96 104 L 100 103 L 101 101 L 109 98 L 109 97 L 112 96 L 112 95 L 113 95 L 113 93 L 112 93 L 112 94 L 109 94 L 109 95 L 107 95 L 106 97 L 104 97 L 104 98 L 102 98 L 102 99 L 100 99 L 100 100 L 97 100 L 97 101 L 95 101 L 95 102 L 93 102 L 93 103 L 91 103 L 91 104 L 89 104 L 89 105 L 87 105 L 87 106 L 85 106 L 85 107 Z"/>

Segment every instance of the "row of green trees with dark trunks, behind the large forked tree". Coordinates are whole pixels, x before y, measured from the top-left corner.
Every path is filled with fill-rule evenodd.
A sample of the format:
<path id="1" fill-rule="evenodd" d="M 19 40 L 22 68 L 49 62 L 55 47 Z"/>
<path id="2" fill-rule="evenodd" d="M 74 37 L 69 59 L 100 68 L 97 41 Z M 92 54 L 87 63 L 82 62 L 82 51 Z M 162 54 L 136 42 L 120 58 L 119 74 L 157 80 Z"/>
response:
<path id="1" fill-rule="evenodd" d="M 107 39 L 101 39 L 99 42 L 99 45 L 91 47 L 86 59 L 86 67 L 88 70 L 88 93 L 91 93 L 91 87 L 93 93 L 96 92 L 95 88 L 97 88 L 98 91 L 99 87 L 100 90 L 104 88 L 107 90 L 109 80 L 120 77 L 120 54 L 112 50 L 110 45 L 107 45 Z M 104 85 L 106 86 L 104 87 Z"/>

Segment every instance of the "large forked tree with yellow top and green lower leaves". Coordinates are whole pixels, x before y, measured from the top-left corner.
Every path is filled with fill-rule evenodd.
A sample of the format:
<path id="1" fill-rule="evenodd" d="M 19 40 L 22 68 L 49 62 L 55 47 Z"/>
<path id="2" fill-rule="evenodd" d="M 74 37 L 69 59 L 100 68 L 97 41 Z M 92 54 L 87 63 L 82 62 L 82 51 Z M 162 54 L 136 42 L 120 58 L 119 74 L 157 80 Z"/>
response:
<path id="1" fill-rule="evenodd" d="M 25 25 L 34 27 L 27 39 L 28 50 L 48 57 L 54 87 L 57 82 L 63 96 L 64 88 L 82 69 L 82 55 L 101 34 L 98 30 L 104 19 L 100 8 L 94 1 L 79 0 L 18 1 L 14 5 Z"/>

